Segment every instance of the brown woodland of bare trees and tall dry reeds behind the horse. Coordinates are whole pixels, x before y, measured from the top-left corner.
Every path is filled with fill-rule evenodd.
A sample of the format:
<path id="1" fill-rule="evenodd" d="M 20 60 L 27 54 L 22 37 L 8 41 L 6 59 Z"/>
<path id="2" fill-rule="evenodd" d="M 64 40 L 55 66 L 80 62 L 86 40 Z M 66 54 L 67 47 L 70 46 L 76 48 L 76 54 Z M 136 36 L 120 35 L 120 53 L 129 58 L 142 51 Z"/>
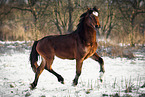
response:
<path id="1" fill-rule="evenodd" d="M 145 44 L 145 0 L 0 0 L 0 40 L 70 33 L 94 6 L 100 10 L 98 38 Z"/>

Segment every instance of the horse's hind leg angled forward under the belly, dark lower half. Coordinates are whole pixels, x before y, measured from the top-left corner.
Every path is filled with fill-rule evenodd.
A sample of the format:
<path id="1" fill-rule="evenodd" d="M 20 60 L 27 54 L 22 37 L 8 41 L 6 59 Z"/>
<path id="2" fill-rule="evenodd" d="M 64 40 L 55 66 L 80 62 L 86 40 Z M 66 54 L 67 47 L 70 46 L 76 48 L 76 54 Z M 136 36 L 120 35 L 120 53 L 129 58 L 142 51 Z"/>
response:
<path id="1" fill-rule="evenodd" d="M 47 59 L 47 64 L 45 66 L 45 69 L 48 70 L 50 73 L 54 74 L 58 81 L 61 82 L 62 84 L 64 84 L 64 79 L 61 75 L 59 75 L 58 73 L 56 73 L 53 69 L 52 69 L 52 62 L 54 60 L 54 57 L 52 59 Z"/>

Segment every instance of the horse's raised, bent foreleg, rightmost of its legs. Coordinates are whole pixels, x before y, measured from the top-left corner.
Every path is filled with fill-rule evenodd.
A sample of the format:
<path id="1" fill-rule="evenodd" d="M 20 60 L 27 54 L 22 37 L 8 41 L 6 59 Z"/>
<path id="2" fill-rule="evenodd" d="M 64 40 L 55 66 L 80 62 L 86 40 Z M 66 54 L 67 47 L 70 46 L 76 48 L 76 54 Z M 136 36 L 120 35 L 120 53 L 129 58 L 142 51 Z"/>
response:
<path id="1" fill-rule="evenodd" d="M 105 69 L 104 69 L 104 61 L 103 61 L 103 59 L 97 53 L 95 53 L 91 58 L 94 59 L 95 61 L 99 62 L 99 64 L 100 64 L 100 72 L 104 73 Z"/>

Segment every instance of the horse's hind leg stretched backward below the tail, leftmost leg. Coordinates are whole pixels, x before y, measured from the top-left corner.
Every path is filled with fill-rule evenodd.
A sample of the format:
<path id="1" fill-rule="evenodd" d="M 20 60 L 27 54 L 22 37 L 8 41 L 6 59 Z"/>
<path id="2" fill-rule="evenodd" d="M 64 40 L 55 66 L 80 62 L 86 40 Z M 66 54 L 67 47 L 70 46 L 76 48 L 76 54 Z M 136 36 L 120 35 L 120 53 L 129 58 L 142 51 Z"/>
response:
<path id="1" fill-rule="evenodd" d="M 37 68 L 37 72 L 35 73 L 35 79 L 34 79 L 34 82 L 31 84 L 31 89 L 34 89 L 37 86 L 39 76 L 44 70 L 45 64 L 46 64 L 45 60 L 42 59 L 42 62 L 40 66 Z"/>

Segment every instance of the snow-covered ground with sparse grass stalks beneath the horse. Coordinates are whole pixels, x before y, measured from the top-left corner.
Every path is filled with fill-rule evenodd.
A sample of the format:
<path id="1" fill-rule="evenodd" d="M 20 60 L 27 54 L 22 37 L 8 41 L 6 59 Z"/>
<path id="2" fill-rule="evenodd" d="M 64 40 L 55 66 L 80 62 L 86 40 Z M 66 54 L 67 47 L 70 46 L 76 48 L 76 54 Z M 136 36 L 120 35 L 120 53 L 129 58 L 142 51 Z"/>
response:
<path id="1" fill-rule="evenodd" d="M 29 54 L 29 49 L 0 54 L 0 97 L 101 97 L 116 93 L 119 96 L 136 97 L 145 94 L 145 87 L 141 88 L 145 83 L 143 53 L 136 52 L 137 58 L 134 60 L 103 57 L 106 71 L 103 83 L 99 81 L 99 64 L 90 58 L 85 60 L 76 87 L 72 86 L 75 60 L 55 57 L 53 69 L 64 77 L 65 84 L 59 83 L 54 75 L 44 70 L 34 90 L 29 88 L 35 76 L 30 66 Z M 126 93 L 126 87 L 130 92 Z"/>

